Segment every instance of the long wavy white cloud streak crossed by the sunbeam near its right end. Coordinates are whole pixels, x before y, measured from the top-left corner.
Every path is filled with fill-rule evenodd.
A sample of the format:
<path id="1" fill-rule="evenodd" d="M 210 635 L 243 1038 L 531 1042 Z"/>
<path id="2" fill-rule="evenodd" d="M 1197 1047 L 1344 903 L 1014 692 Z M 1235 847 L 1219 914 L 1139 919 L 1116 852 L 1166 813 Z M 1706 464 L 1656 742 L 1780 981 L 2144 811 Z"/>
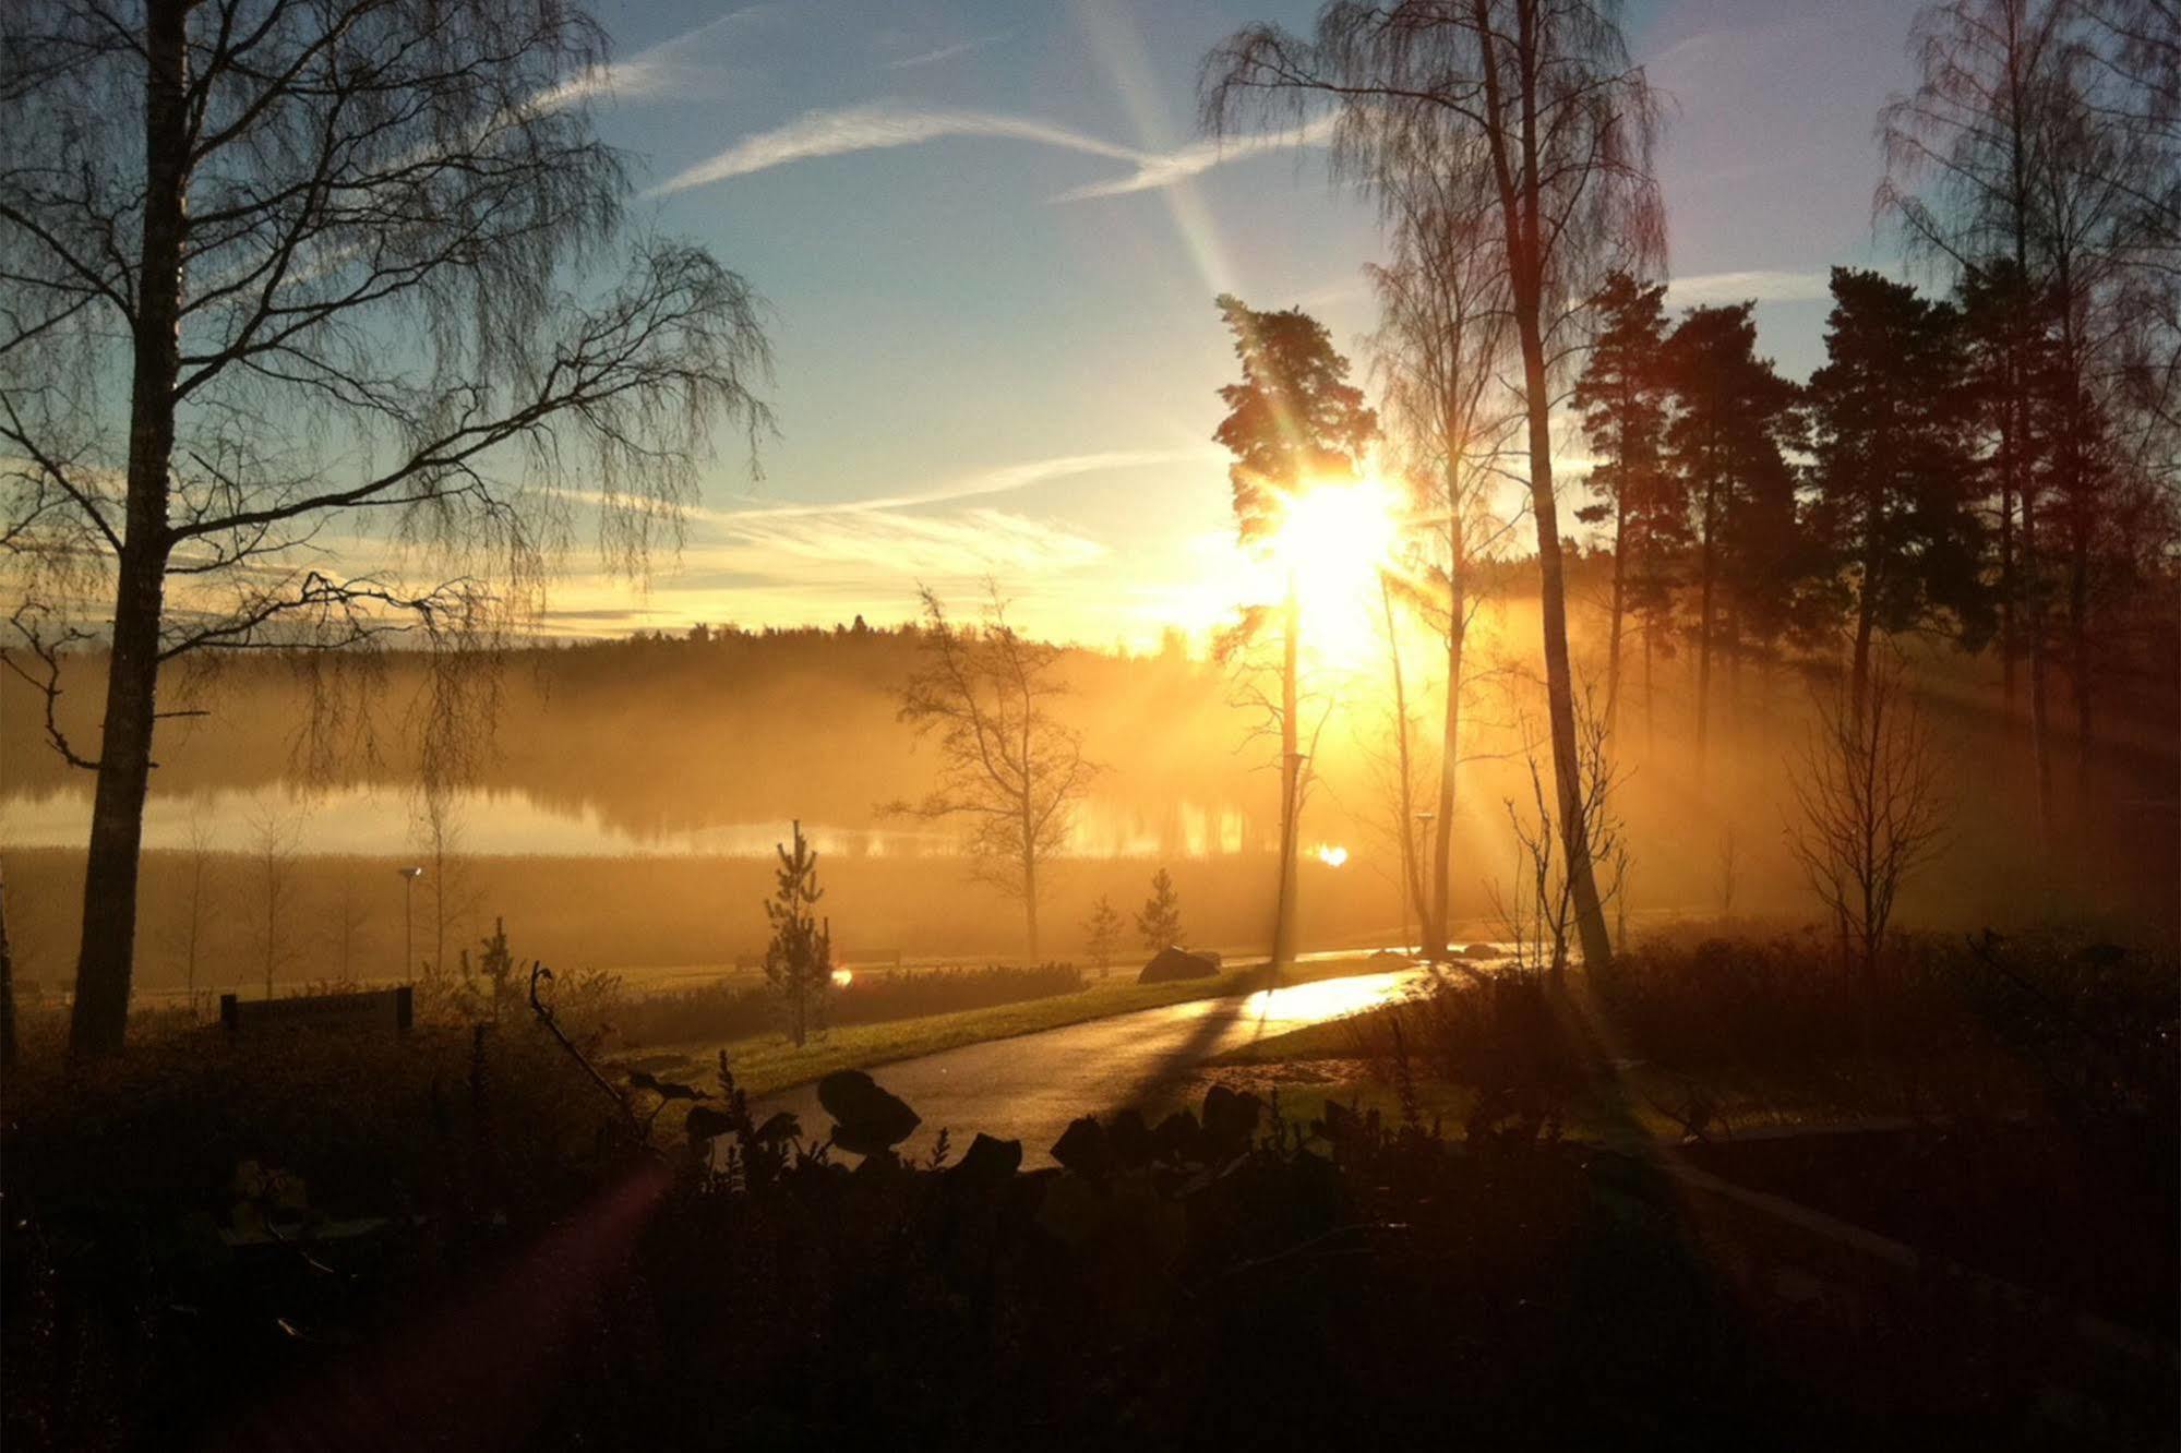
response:
<path id="1" fill-rule="evenodd" d="M 1097 181 L 1062 192 L 1053 201 L 1086 201 L 1093 196 L 1121 196 L 1125 192 L 1149 192 L 1171 188 L 1178 181 L 1197 177 L 1224 161 L 1250 157 L 1261 151 L 1291 146 L 1296 142 L 1313 146 L 1324 142 L 1330 122 L 1313 122 L 1300 135 L 1272 133 L 1239 137 L 1228 142 L 1191 142 L 1176 151 L 1138 151 L 1101 137 L 1049 122 L 1036 116 L 1008 116 L 1001 111 L 927 111 L 892 100 L 875 100 L 831 111 L 805 111 L 785 127 L 748 135 L 726 151 L 698 161 L 696 166 L 667 177 L 650 196 L 670 196 L 689 188 L 711 185 L 728 177 L 748 177 L 790 161 L 814 157 L 844 157 L 857 151 L 885 151 L 892 146 L 916 146 L 955 135 L 1005 137 L 1014 142 L 1036 142 L 1093 157 L 1134 164 L 1130 177 Z"/>

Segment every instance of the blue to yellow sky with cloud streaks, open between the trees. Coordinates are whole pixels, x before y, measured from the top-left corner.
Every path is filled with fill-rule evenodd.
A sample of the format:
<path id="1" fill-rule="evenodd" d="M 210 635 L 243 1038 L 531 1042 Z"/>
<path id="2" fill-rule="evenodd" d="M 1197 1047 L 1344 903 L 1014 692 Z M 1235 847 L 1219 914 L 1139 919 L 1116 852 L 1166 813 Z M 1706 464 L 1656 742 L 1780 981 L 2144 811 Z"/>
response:
<path id="1" fill-rule="evenodd" d="M 569 628 L 872 622 L 990 574 L 1060 637 L 1202 626 L 1226 559 L 1213 295 L 1304 305 L 1357 351 L 1367 207 L 1322 155 L 1195 135 L 1195 70 L 1267 0 L 608 4 L 606 137 L 648 225 L 768 299 L 781 436 L 728 447 L 641 600 L 569 580 Z M 1913 81 L 1908 0 L 1651 0 L 1636 59 L 1677 103 L 1660 181 L 1673 301 L 1760 297 L 1819 360 L 1823 273 L 1873 236 L 1876 111 Z M 1361 358 L 1359 358 L 1361 371 Z"/>

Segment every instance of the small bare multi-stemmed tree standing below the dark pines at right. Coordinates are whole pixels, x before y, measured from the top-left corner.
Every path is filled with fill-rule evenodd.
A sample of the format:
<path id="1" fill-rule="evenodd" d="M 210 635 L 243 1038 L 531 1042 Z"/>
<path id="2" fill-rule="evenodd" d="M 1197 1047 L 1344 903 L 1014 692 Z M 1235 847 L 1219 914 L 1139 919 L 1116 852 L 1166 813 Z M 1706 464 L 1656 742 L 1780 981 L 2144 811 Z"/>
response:
<path id="1" fill-rule="evenodd" d="M 1878 975 L 1902 884 L 1939 846 L 1945 803 L 1930 729 L 1897 659 L 1880 659 L 1860 694 L 1819 700 L 1795 772 L 1786 842 L 1832 914 L 1841 966 Z"/>

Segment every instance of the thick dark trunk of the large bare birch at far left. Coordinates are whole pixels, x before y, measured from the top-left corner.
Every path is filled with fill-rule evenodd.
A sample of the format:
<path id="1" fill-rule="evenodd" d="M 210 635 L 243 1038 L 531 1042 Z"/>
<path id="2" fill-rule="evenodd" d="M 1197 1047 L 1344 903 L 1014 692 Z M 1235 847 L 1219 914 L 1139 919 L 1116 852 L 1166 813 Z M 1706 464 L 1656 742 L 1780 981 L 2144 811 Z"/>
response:
<path id="1" fill-rule="evenodd" d="M 83 947 L 70 1054 L 122 1047 L 135 958 L 137 853 L 150 788 L 166 596 L 168 465 L 181 375 L 181 247 L 188 203 L 185 9 L 150 0 L 144 15 L 144 227 L 129 384 L 129 497 L 116 569 L 107 716 L 83 866 Z"/>

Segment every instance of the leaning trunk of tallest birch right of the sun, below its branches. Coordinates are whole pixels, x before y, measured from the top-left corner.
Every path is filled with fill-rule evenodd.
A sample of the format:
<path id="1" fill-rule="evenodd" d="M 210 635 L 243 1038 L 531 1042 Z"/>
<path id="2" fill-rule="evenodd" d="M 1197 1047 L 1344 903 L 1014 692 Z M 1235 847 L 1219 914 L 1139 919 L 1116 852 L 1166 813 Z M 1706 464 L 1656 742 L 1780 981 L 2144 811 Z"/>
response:
<path id="1" fill-rule="evenodd" d="M 1527 305 L 1525 305 L 1527 303 Z M 1544 382 L 1544 338 L 1538 299 L 1518 295 L 1516 329 L 1522 340 L 1522 382 L 1529 401 L 1529 508 L 1538 524 L 1538 576 L 1544 615 L 1544 692 L 1553 722 L 1553 779 L 1559 788 L 1559 844 L 1575 897 L 1575 932 L 1583 969 L 1594 973 L 1614 953 L 1605 934 L 1605 905 L 1590 868 L 1590 825 L 1583 820 L 1581 759 L 1575 742 L 1575 674 L 1568 665 L 1566 561 L 1559 554 L 1559 504 L 1553 497 L 1553 421 Z"/>

